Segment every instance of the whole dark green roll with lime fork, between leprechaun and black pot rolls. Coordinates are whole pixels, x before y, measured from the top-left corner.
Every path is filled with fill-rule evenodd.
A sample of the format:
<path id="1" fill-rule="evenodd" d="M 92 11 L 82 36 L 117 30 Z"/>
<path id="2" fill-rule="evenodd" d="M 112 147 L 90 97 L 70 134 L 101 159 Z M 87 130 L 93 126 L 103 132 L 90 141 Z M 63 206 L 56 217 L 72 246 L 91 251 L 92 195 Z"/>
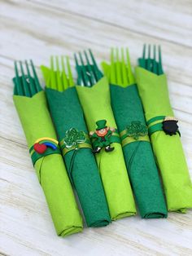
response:
<path id="1" fill-rule="evenodd" d="M 129 60 L 128 51 L 126 53 Z M 130 63 L 117 61 L 111 51 L 111 64 L 103 63 L 103 70 L 111 83 L 111 106 L 138 210 L 142 218 L 166 218 L 164 194 Z"/>

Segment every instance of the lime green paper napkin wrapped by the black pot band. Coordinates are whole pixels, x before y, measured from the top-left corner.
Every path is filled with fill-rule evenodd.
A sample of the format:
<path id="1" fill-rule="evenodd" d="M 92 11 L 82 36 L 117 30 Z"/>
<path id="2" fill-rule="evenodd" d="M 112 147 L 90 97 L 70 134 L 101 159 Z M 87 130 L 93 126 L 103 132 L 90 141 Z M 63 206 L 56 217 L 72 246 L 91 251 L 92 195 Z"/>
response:
<path id="1" fill-rule="evenodd" d="M 159 116 L 173 117 L 166 76 L 137 67 L 136 77 L 146 121 Z M 192 185 L 180 135 L 170 136 L 158 130 L 151 135 L 151 143 L 163 179 L 168 210 L 185 213 L 192 207 Z"/>

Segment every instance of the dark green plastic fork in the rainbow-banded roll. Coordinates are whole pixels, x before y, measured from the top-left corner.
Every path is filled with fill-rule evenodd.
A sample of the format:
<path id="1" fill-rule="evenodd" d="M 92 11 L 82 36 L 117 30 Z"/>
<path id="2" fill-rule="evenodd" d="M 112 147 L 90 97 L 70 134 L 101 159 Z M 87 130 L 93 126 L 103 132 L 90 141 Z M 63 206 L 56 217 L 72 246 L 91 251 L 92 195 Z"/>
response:
<path id="1" fill-rule="evenodd" d="M 30 64 L 25 60 L 24 65 L 21 61 L 15 61 L 14 66 L 14 95 L 33 97 L 33 95 L 42 90 L 32 60 L 30 60 Z"/>

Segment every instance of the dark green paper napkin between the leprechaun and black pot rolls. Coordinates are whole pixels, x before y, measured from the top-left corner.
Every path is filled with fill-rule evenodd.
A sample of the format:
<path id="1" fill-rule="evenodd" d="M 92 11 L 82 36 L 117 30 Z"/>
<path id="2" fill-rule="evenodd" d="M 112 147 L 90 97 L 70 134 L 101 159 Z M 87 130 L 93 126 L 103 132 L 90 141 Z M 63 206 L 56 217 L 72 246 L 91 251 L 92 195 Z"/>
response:
<path id="1" fill-rule="evenodd" d="M 126 131 L 126 127 L 132 121 L 140 121 L 142 125 L 146 126 L 137 86 L 111 85 L 110 89 L 111 106 L 120 134 Z M 140 140 L 144 137 L 146 141 Z M 142 218 L 165 218 L 167 209 L 164 194 L 151 143 L 147 141 L 147 137 L 141 136 L 137 140 L 133 139 L 133 142 L 130 137 L 125 137 L 122 140 L 124 160 Z"/>

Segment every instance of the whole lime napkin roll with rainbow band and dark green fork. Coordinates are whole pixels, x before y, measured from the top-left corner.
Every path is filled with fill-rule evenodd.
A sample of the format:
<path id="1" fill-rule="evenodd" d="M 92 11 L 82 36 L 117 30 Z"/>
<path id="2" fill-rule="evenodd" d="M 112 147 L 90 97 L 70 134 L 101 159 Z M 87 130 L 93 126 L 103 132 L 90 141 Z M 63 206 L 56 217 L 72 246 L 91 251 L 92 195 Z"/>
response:
<path id="1" fill-rule="evenodd" d="M 26 72 L 20 62 L 20 76 L 18 64 L 15 63 L 13 100 L 30 148 L 33 166 L 45 193 L 57 234 L 67 236 L 81 232 L 81 214 L 63 164 L 45 92 L 41 90 L 32 61 L 32 71 L 27 62 L 25 65 Z M 45 149 L 45 152 L 40 152 Z"/>

